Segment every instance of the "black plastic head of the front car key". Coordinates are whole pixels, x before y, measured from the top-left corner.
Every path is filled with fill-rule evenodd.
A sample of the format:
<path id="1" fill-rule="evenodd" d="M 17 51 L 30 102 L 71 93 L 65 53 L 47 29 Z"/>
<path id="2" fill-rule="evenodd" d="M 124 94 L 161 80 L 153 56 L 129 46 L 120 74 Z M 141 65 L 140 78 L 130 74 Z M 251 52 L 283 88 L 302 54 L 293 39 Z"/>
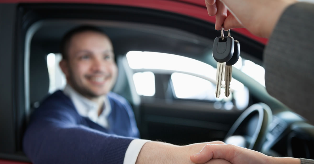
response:
<path id="1" fill-rule="evenodd" d="M 216 62 L 223 63 L 228 62 L 234 52 L 234 39 L 231 36 L 216 37 L 213 46 L 213 57 Z"/>

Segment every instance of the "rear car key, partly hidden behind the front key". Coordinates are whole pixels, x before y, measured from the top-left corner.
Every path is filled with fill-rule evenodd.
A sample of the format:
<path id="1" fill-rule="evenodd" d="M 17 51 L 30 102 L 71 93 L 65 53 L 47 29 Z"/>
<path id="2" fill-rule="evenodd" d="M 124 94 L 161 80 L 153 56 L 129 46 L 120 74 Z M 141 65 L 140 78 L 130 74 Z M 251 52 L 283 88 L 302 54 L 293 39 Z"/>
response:
<path id="1" fill-rule="evenodd" d="M 225 66 L 225 96 L 229 97 L 230 95 L 230 82 L 232 79 L 232 65 L 236 64 L 240 57 L 240 43 L 235 40 L 234 52 L 231 59 L 226 62 Z"/>

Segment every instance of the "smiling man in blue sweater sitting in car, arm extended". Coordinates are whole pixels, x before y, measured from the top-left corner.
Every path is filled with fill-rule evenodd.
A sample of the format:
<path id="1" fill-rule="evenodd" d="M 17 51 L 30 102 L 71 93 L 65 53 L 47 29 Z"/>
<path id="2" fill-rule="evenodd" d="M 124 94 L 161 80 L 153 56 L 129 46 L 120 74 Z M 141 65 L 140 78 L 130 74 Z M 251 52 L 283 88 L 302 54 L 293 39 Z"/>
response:
<path id="1" fill-rule="evenodd" d="M 62 39 L 61 53 L 67 85 L 42 101 L 24 134 L 23 149 L 34 164 L 191 163 L 189 156 L 206 144 L 224 144 L 176 146 L 138 139 L 132 108 L 110 91 L 117 66 L 102 30 L 71 30 Z"/>

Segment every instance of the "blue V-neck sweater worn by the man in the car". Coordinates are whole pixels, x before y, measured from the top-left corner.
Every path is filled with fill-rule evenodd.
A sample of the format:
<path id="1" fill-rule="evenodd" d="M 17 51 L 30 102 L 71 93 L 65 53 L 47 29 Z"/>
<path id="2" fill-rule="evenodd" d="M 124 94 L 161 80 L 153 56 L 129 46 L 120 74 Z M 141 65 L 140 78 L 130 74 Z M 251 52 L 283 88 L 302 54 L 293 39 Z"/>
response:
<path id="1" fill-rule="evenodd" d="M 128 102 L 112 92 L 107 96 L 112 108 L 109 129 L 80 116 L 61 90 L 48 96 L 30 118 L 25 154 L 34 164 L 123 163 L 139 132 Z"/>

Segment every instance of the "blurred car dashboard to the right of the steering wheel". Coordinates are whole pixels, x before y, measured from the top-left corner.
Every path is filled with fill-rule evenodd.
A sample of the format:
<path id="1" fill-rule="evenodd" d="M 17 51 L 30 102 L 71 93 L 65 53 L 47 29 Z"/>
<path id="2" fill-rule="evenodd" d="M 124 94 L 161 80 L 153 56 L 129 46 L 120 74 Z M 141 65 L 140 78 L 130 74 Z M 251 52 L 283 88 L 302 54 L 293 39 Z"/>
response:
<path id="1" fill-rule="evenodd" d="M 264 154 L 313 159 L 314 126 L 302 117 L 290 111 L 276 113 L 268 129 Z"/>

